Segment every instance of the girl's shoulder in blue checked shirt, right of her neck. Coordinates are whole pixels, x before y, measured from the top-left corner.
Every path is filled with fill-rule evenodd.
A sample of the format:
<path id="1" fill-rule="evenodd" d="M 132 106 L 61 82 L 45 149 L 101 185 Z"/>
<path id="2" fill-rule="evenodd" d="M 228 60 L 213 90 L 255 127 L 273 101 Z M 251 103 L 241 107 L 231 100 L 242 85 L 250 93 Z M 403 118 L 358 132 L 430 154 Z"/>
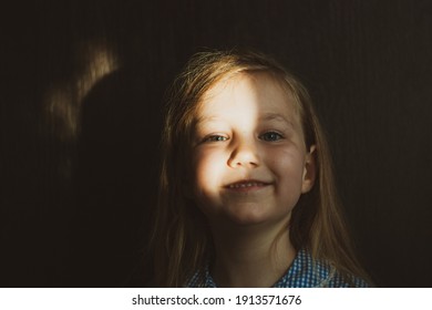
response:
<path id="1" fill-rule="evenodd" d="M 326 260 L 316 260 L 308 250 L 297 254 L 286 275 L 275 285 L 279 288 L 367 288 L 368 282 L 352 275 L 342 276 Z"/>

